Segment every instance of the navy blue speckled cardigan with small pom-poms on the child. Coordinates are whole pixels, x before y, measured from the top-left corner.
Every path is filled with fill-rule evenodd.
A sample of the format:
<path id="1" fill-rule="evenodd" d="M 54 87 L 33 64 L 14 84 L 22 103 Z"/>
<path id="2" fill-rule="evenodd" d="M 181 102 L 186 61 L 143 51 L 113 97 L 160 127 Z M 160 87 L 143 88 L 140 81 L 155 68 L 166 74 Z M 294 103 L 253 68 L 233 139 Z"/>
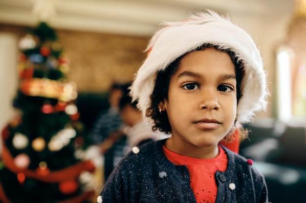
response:
<path id="1" fill-rule="evenodd" d="M 141 146 L 114 168 L 98 202 L 103 203 L 196 203 L 186 166 L 175 166 L 163 153 L 165 140 Z M 217 171 L 216 203 L 268 203 L 264 177 L 247 160 L 224 148 L 225 172 Z"/>

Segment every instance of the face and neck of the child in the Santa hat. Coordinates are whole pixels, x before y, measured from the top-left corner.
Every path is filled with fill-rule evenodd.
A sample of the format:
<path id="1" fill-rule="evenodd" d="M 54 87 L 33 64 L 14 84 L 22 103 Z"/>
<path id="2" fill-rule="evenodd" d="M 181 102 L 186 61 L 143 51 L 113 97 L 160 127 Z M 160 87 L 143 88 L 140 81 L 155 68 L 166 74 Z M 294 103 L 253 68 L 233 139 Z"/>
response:
<path id="1" fill-rule="evenodd" d="M 233 127 L 237 111 L 235 65 L 214 48 L 184 56 L 164 99 L 172 137 L 166 147 L 176 153 L 213 158 L 218 143 Z"/>

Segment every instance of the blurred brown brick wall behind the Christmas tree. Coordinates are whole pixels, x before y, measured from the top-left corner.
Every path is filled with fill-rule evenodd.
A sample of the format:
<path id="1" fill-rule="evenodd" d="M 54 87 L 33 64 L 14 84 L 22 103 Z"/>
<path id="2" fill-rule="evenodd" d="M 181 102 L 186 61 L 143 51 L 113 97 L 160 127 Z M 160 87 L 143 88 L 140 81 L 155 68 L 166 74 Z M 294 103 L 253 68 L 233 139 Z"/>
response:
<path id="1" fill-rule="evenodd" d="M 0 24 L 0 32 L 22 37 L 25 26 Z M 146 57 L 148 38 L 114 34 L 56 30 L 70 60 L 69 81 L 78 92 L 106 92 L 114 81 L 131 81 Z M 17 60 L 17 58 L 16 58 Z"/>

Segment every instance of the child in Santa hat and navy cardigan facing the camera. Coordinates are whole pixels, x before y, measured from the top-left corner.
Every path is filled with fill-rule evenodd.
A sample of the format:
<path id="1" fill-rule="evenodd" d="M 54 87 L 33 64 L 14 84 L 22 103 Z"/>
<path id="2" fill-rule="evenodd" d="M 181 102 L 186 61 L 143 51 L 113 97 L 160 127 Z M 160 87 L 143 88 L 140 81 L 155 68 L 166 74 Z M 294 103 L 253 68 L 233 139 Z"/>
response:
<path id="1" fill-rule="evenodd" d="M 148 51 L 131 95 L 153 130 L 171 137 L 133 148 L 97 202 L 267 203 L 252 161 L 219 145 L 266 107 L 266 74 L 251 37 L 207 11 L 167 23 Z"/>

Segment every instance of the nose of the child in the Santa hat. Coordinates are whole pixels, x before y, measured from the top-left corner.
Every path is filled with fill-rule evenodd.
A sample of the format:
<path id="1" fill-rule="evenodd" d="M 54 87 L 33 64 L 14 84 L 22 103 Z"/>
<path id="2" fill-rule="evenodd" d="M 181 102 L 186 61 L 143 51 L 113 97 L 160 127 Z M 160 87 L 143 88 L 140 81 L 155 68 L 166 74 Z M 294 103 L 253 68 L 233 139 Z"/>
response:
<path id="1" fill-rule="evenodd" d="M 219 110 L 218 92 L 216 91 L 205 91 L 201 93 L 201 101 L 199 104 L 200 109 L 208 110 Z"/>

